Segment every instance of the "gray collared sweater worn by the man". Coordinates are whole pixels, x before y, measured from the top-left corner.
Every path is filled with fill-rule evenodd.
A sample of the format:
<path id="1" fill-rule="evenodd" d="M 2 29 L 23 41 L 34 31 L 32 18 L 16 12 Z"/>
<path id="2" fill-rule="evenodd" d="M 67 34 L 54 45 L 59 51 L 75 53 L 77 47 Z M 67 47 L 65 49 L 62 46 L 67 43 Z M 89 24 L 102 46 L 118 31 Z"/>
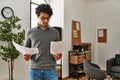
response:
<path id="1" fill-rule="evenodd" d="M 59 41 L 60 36 L 57 30 L 47 27 L 42 30 L 35 27 L 27 32 L 26 47 L 38 48 L 39 53 L 32 55 L 30 59 L 31 69 L 55 69 L 56 61 L 50 53 L 50 42 Z"/>

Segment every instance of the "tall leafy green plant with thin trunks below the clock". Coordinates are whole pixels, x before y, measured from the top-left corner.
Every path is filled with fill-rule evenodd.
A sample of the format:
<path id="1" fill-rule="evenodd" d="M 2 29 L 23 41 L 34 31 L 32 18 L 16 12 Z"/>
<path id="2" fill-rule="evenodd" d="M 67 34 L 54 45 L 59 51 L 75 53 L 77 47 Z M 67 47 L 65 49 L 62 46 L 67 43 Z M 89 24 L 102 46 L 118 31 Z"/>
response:
<path id="1" fill-rule="evenodd" d="M 25 39 L 25 30 L 21 31 L 21 25 L 17 24 L 20 20 L 17 16 L 12 16 L 0 21 L 0 42 L 7 44 L 0 44 L 0 58 L 8 63 L 9 80 L 13 80 L 14 61 L 20 55 L 12 41 L 22 45 Z"/>

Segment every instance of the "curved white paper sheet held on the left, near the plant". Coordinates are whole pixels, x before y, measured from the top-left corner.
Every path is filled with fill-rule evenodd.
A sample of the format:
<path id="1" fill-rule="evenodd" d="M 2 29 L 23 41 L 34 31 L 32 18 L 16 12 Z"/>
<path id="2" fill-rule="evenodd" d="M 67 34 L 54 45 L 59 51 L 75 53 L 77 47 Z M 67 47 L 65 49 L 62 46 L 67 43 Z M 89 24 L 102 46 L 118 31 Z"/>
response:
<path id="1" fill-rule="evenodd" d="M 15 43 L 15 42 L 13 42 L 13 45 L 23 55 L 25 55 L 25 54 L 36 54 L 36 53 L 39 52 L 38 48 L 27 48 L 27 47 L 24 47 L 24 46 L 21 46 L 21 45 Z"/>

